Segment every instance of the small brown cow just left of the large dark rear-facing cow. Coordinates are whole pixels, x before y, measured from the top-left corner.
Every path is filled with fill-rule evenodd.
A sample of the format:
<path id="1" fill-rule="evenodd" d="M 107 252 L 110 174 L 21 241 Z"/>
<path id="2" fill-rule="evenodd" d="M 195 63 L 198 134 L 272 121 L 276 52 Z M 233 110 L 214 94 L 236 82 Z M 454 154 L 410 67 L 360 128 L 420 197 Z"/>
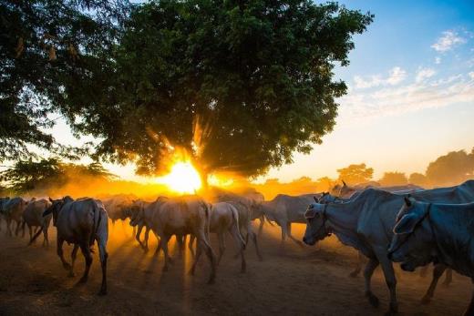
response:
<path id="1" fill-rule="evenodd" d="M 29 245 L 31 245 L 33 240 L 36 240 L 36 235 L 39 235 L 41 232 L 43 232 L 43 246 L 49 246 L 47 229 L 49 228 L 52 215 L 43 217 L 43 213 L 50 206 L 51 202 L 47 199 L 32 199 L 28 202 L 28 205 L 23 212 L 23 230 L 25 230 L 25 225 L 27 225 L 30 237 Z M 37 230 L 35 233 L 36 237 L 33 236 L 33 228 L 39 228 L 39 230 Z"/>

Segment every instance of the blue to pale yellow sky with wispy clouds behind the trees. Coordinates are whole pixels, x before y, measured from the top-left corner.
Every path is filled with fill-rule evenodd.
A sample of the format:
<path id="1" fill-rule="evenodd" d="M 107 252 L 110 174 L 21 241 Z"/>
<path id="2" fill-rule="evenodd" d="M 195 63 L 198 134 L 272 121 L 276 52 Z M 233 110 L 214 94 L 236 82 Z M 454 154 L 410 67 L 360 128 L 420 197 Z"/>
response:
<path id="1" fill-rule="evenodd" d="M 338 99 L 334 131 L 309 155 L 264 177 L 336 178 L 336 169 L 365 162 L 374 178 L 386 171 L 424 172 L 452 150 L 474 147 L 474 1 L 340 1 L 376 15 L 355 36 L 350 65 L 335 78 L 348 86 Z M 71 137 L 64 122 L 57 140 Z M 81 138 L 79 141 L 88 140 Z M 121 178 L 142 180 L 132 165 L 106 165 Z"/>

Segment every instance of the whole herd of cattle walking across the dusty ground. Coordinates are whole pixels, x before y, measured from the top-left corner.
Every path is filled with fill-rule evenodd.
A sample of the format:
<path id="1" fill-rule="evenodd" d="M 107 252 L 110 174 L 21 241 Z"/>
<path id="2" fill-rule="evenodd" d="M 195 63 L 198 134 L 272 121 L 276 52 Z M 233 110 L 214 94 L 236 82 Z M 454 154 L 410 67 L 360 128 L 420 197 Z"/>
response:
<path id="1" fill-rule="evenodd" d="M 212 203 L 210 203 L 210 201 Z M 230 233 L 241 257 L 241 270 L 246 270 L 244 250 L 252 240 L 257 256 L 262 260 L 258 247 L 259 232 L 266 221 L 276 223 L 282 230 L 282 243 L 289 238 L 300 246 L 303 243 L 292 235 L 292 223 L 305 223 L 304 243 L 314 245 L 327 236 L 335 236 L 347 246 L 359 251 L 355 276 L 364 270 L 366 298 L 378 305 L 371 291 L 371 278 L 381 266 L 390 292 L 390 313 L 397 312 L 397 280 L 393 262 L 401 262 L 402 270 L 413 271 L 417 267 L 435 265 L 433 279 L 423 302 L 433 297 L 441 275 L 451 270 L 474 280 L 474 180 L 455 187 L 421 189 L 415 186 L 392 188 L 351 188 L 338 186 L 330 193 L 306 194 L 292 197 L 278 195 L 270 201 L 252 192 L 237 195 L 220 192 L 212 199 L 199 196 L 179 198 L 159 197 L 147 202 L 129 197 L 115 197 L 103 202 L 98 199 L 0 199 L 1 221 L 6 222 L 6 234 L 25 235 L 29 229 L 30 244 L 43 234 L 48 244 L 47 229 L 51 219 L 57 228 L 57 255 L 70 276 L 74 276 L 74 262 L 80 248 L 86 259 L 86 270 L 79 282 L 88 280 L 92 263 L 91 247 L 97 241 L 102 267 L 100 294 L 107 293 L 107 242 L 108 219 L 129 219 L 136 229 L 136 239 L 144 251 L 148 251 L 149 231 L 159 240 L 159 253 L 163 250 L 163 270 L 168 270 L 170 256 L 168 243 L 175 236 L 180 250 L 187 243 L 193 255 L 191 274 L 202 252 L 211 265 L 212 283 L 216 269 L 225 250 L 225 234 Z M 252 221 L 259 219 L 255 231 Z M 145 229 L 144 238 L 141 232 Z M 215 233 L 219 241 L 218 256 L 214 254 L 209 234 Z M 196 251 L 194 252 L 194 240 Z M 64 241 L 74 245 L 69 264 L 63 255 Z M 466 315 L 474 315 L 474 296 Z"/>

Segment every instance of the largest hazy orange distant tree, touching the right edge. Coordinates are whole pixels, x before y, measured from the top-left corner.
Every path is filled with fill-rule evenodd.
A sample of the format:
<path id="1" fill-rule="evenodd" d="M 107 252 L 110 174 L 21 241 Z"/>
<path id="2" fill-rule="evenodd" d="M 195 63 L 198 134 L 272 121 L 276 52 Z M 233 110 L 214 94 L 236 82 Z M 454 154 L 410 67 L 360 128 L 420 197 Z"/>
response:
<path id="1" fill-rule="evenodd" d="M 456 185 L 474 178 L 474 148 L 469 154 L 459 150 L 439 157 L 428 165 L 426 174 L 435 185 Z"/>

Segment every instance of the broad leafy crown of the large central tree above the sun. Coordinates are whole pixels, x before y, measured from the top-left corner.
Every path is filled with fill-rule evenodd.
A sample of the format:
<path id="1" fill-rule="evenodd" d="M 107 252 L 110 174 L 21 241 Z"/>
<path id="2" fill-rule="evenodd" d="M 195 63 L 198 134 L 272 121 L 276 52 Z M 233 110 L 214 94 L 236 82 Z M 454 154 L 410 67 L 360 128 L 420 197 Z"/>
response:
<path id="1" fill-rule="evenodd" d="M 204 173 L 262 174 L 332 130 L 346 91 L 333 68 L 372 17 L 300 0 L 152 1 L 132 10 L 104 80 L 78 76 L 60 108 L 102 139 L 98 157 L 134 160 L 139 173 L 172 145 Z"/>

